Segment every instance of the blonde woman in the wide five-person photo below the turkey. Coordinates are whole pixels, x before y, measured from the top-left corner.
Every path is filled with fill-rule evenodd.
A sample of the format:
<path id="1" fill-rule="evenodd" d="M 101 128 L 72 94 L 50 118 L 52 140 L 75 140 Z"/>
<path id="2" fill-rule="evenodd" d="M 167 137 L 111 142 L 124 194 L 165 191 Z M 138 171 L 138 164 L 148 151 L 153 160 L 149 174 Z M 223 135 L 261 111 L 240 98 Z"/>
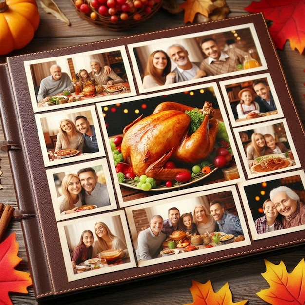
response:
<path id="1" fill-rule="evenodd" d="M 199 235 L 216 231 L 216 221 L 204 205 L 198 204 L 194 207 L 193 217 Z"/>

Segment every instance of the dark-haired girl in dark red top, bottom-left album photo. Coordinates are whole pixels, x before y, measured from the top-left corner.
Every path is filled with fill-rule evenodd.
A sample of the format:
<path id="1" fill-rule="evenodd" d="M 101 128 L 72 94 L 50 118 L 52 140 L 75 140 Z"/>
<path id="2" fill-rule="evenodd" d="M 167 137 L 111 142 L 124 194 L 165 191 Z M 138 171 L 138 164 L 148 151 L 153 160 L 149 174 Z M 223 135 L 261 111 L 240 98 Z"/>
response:
<path id="1" fill-rule="evenodd" d="M 80 241 L 72 252 L 72 267 L 92 258 L 93 233 L 85 230 L 81 233 Z"/>

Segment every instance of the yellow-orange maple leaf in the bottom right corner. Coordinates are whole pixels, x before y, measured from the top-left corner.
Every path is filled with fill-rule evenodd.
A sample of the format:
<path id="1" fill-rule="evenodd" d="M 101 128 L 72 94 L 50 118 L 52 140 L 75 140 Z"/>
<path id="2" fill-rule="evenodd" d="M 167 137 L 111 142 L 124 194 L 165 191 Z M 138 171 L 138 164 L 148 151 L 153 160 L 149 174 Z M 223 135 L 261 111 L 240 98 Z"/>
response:
<path id="1" fill-rule="evenodd" d="M 270 288 L 256 294 L 272 305 L 305 304 L 305 263 L 304 258 L 291 273 L 285 264 L 274 265 L 265 260 L 266 272 L 262 276 Z"/>

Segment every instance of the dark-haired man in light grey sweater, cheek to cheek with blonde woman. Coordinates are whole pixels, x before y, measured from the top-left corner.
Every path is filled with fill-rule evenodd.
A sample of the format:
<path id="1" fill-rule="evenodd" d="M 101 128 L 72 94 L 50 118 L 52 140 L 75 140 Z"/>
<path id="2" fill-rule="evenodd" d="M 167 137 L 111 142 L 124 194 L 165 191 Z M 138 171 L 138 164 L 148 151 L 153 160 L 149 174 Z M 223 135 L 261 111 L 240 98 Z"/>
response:
<path id="1" fill-rule="evenodd" d="M 110 205 L 107 186 L 97 181 L 97 175 L 92 167 L 81 169 L 77 172 L 83 188 L 83 199 L 86 205 L 105 207 Z"/>

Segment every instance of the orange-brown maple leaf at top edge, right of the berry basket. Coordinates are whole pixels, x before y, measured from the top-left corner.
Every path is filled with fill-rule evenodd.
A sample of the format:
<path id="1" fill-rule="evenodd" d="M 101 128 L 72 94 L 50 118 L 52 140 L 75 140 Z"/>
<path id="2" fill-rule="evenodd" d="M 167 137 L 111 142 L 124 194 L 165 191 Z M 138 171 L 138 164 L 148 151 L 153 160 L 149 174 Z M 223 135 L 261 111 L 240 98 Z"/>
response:
<path id="1" fill-rule="evenodd" d="M 184 9 L 184 23 L 192 23 L 197 13 L 208 17 L 215 8 L 211 0 L 187 0 L 179 6 Z"/>

